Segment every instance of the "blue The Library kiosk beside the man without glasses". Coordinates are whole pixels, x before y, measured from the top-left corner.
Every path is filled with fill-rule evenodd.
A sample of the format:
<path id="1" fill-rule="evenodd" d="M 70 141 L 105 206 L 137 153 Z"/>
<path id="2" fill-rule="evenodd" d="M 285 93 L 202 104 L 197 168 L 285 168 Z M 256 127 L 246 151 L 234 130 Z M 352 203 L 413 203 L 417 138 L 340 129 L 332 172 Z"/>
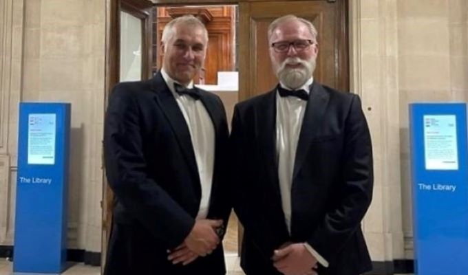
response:
<path id="1" fill-rule="evenodd" d="M 21 103 L 13 272 L 65 269 L 70 104 Z"/>

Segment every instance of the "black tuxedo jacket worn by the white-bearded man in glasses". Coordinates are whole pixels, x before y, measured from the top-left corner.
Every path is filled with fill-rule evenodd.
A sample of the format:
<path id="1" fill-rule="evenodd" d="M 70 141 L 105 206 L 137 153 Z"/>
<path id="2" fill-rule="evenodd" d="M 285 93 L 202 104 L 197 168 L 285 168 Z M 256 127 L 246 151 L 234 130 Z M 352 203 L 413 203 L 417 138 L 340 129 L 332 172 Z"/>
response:
<path id="1" fill-rule="evenodd" d="M 236 105 L 231 132 L 234 208 L 245 227 L 247 274 L 277 274 L 270 257 L 308 242 L 330 266 L 319 274 L 370 270 L 361 220 L 372 199 L 372 146 L 359 97 L 315 82 L 301 126 L 284 221 L 276 154 L 276 89 Z"/>

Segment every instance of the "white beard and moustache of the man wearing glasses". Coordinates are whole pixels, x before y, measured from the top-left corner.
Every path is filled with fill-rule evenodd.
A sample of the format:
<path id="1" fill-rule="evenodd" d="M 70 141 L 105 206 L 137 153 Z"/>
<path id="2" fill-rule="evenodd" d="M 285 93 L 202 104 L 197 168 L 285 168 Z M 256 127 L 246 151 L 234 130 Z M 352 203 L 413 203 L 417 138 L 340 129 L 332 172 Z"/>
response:
<path id="1" fill-rule="evenodd" d="M 286 67 L 288 64 L 301 64 L 298 68 Z M 279 66 L 276 71 L 278 79 L 290 89 L 297 89 L 312 77 L 315 70 L 315 58 L 309 61 L 302 60 L 299 57 L 288 57 Z"/>

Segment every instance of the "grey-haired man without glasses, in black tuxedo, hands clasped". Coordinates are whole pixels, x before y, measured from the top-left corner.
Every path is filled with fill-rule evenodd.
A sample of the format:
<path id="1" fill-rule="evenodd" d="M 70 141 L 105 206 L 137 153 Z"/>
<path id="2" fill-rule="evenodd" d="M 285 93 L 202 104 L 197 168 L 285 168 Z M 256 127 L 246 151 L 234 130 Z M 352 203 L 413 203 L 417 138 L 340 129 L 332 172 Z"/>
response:
<path id="1" fill-rule="evenodd" d="M 193 87 L 207 46 L 200 20 L 173 19 L 160 72 L 111 93 L 104 152 L 116 199 L 105 275 L 226 273 L 226 114 L 219 97 Z"/>

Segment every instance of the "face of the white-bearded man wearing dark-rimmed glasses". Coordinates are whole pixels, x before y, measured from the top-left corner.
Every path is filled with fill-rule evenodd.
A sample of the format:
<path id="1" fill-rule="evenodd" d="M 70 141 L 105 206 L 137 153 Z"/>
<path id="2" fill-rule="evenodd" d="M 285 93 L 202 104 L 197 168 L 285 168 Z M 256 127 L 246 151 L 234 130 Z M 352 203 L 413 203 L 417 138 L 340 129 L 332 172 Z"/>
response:
<path id="1" fill-rule="evenodd" d="M 303 48 L 304 41 L 312 41 L 312 43 Z M 298 20 L 281 23 L 273 30 L 269 42 L 270 45 L 289 44 L 285 51 L 270 46 L 273 71 L 281 83 L 290 89 L 297 89 L 304 85 L 312 77 L 319 52 L 315 37 L 307 26 Z"/>

